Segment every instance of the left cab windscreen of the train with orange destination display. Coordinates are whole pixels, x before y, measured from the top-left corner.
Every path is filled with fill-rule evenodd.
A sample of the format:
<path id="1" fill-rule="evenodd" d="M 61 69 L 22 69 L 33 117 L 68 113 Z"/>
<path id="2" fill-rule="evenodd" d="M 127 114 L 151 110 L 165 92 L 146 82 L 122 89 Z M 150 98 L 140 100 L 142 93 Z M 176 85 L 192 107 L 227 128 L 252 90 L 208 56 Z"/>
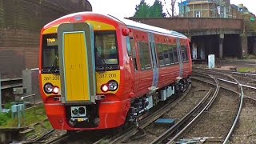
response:
<path id="1" fill-rule="evenodd" d="M 59 73 L 57 34 L 42 36 L 42 73 Z"/>

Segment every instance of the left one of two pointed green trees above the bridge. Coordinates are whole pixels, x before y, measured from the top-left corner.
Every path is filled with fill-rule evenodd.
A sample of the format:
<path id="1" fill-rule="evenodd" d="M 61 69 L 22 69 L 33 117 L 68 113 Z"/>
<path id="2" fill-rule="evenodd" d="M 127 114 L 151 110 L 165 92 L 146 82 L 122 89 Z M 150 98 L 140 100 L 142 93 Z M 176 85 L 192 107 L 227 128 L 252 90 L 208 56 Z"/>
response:
<path id="1" fill-rule="evenodd" d="M 141 2 L 135 7 L 134 17 L 142 18 L 149 17 L 150 6 L 146 4 L 145 0 L 141 0 Z"/>

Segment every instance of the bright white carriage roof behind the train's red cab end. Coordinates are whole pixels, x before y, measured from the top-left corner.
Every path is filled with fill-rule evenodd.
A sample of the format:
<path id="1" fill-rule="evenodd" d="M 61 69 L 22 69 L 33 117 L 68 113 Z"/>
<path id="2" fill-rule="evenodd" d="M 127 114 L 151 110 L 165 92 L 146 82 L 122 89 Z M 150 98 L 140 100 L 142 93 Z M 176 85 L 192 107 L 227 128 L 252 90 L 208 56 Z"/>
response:
<path id="1" fill-rule="evenodd" d="M 112 16 L 112 17 L 114 17 L 114 16 Z M 135 29 L 140 29 L 140 30 L 142 29 L 142 30 L 157 32 L 157 33 L 161 33 L 161 34 L 173 35 L 174 37 L 178 37 L 178 38 L 187 38 L 184 34 L 180 34 L 173 30 L 166 30 L 166 29 L 162 29 L 160 27 L 150 26 L 150 25 L 147 25 L 147 24 L 144 24 L 141 22 L 135 22 L 135 21 L 132 21 L 132 20 L 126 19 L 126 18 L 117 18 L 117 19 L 120 22 L 123 22 L 126 26 L 132 27 Z"/>

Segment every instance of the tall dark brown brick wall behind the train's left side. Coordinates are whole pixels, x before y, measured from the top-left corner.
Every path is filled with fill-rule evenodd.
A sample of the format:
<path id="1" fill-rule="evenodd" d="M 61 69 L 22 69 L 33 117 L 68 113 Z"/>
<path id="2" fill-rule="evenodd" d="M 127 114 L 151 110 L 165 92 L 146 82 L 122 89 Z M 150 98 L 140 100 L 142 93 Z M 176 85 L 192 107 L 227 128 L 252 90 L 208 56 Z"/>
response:
<path id="1" fill-rule="evenodd" d="M 86 0 L 0 0 L 2 78 L 22 77 L 22 70 L 38 67 L 42 26 L 66 14 L 91 10 Z"/>

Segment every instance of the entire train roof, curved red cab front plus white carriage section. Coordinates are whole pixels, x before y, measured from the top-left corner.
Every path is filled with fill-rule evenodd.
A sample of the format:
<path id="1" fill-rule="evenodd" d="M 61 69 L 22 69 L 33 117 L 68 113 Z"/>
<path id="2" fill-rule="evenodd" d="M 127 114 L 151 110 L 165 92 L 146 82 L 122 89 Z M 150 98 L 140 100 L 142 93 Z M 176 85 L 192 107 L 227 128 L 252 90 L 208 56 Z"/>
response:
<path id="1" fill-rule="evenodd" d="M 64 19 L 66 19 L 66 21 L 69 21 L 70 18 L 72 18 L 76 15 L 87 15 L 87 14 L 91 15 L 91 14 L 97 14 L 97 13 L 86 11 L 86 12 L 78 12 L 78 13 L 74 13 L 74 14 L 68 14 L 68 15 L 63 16 L 62 18 L 58 18 L 58 19 L 54 20 L 53 22 L 46 24 L 46 26 L 44 26 L 44 28 L 58 24 L 58 22 L 62 22 L 62 20 L 64 20 Z M 134 28 L 134 29 L 146 30 L 146 31 L 154 32 L 154 33 L 160 33 L 160 34 L 168 34 L 168 35 L 172 35 L 172 36 L 178 37 L 178 38 L 187 38 L 185 35 L 180 34 L 173 30 L 166 30 L 166 29 L 162 29 L 160 27 L 150 26 L 150 25 L 147 25 L 147 24 L 144 24 L 141 22 L 135 22 L 135 21 L 132 21 L 132 20 L 126 19 L 126 18 L 117 18 L 110 14 L 100 14 L 100 15 L 105 16 L 107 18 L 112 18 L 113 20 L 115 20 L 117 22 L 122 22 L 126 26 Z"/>

